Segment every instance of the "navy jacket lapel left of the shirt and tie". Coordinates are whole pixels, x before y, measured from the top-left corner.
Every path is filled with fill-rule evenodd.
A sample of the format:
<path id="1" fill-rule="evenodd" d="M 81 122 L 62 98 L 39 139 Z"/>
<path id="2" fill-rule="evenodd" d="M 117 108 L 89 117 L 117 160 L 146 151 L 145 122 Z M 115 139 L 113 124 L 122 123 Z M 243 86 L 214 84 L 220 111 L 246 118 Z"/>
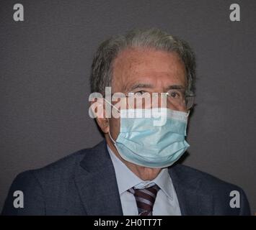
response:
<path id="1" fill-rule="evenodd" d="M 76 186 L 87 215 L 123 215 L 112 165 L 105 142 L 84 156 L 76 172 Z"/>

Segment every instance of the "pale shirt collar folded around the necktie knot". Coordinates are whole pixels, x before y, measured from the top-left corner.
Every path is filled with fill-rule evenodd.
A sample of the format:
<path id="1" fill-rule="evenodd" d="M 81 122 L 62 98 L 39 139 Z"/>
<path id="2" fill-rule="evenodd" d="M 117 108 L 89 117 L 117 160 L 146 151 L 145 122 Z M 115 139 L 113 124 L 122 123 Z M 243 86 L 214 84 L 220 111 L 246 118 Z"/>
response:
<path id="1" fill-rule="evenodd" d="M 154 180 L 141 180 L 112 152 L 108 145 L 107 150 L 110 153 L 110 158 L 115 168 L 115 177 L 120 195 L 129 188 L 147 188 L 156 184 L 172 200 L 174 188 L 167 168 L 162 169 Z"/>

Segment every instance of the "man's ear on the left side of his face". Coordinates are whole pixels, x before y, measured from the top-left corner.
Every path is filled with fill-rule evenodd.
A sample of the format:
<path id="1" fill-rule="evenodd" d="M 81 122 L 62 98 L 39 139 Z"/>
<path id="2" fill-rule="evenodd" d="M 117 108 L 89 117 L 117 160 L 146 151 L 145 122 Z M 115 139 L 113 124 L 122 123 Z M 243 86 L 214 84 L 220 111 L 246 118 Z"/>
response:
<path id="1" fill-rule="evenodd" d="M 110 123 L 109 118 L 106 117 L 105 103 L 103 100 L 91 101 L 90 109 L 102 132 L 107 134 L 110 131 Z"/>

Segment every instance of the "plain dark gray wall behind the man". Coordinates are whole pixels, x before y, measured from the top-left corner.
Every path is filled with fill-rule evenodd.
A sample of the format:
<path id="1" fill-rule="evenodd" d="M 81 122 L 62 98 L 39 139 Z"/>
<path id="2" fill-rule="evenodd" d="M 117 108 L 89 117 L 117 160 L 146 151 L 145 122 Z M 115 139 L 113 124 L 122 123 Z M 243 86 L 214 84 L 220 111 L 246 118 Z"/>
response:
<path id="1" fill-rule="evenodd" d="M 13 6 L 25 7 L 14 22 Z M 229 20 L 238 3 L 241 22 Z M 256 1 L 0 1 L 0 209 L 17 173 L 102 139 L 88 116 L 102 40 L 159 27 L 190 42 L 197 103 L 184 164 L 235 183 L 256 212 Z"/>

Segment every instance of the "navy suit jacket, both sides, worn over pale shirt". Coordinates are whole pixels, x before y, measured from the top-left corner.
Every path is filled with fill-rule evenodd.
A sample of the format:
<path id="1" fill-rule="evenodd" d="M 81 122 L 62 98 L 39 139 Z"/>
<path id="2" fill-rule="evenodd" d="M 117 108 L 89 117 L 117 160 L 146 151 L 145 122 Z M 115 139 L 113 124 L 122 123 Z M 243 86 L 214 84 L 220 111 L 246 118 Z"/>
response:
<path id="1" fill-rule="evenodd" d="M 250 215 L 244 191 L 184 165 L 169 167 L 182 215 Z M 24 208 L 14 208 L 14 191 L 24 193 Z M 230 192 L 239 191 L 240 208 Z M 17 175 L 2 215 L 123 215 L 115 170 L 105 141 L 58 162 Z"/>

